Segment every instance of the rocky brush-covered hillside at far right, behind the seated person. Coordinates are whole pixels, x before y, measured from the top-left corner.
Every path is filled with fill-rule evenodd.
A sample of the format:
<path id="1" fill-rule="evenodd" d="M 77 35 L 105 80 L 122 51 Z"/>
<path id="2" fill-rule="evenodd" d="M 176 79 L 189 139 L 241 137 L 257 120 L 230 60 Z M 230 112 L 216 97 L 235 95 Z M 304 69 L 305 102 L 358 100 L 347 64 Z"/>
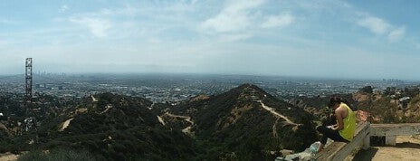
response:
<path id="1" fill-rule="evenodd" d="M 347 99 L 353 110 L 370 113 L 372 123 L 410 123 L 420 122 L 420 86 L 404 89 L 387 88 L 373 92 L 370 86 L 354 93 L 335 95 Z M 305 109 L 317 119 L 325 117 L 325 110 L 331 96 L 291 100 L 291 104 Z"/>

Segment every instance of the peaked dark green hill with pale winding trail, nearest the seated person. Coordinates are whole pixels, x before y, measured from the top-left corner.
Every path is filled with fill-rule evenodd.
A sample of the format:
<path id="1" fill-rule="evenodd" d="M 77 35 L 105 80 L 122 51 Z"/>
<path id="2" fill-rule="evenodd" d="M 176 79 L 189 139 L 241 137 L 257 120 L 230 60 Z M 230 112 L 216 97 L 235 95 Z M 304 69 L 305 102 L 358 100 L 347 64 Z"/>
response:
<path id="1" fill-rule="evenodd" d="M 300 151 L 317 137 L 309 113 L 251 84 L 217 96 L 200 96 L 167 112 L 194 122 L 162 116 L 181 128 L 190 127 L 200 145 L 211 147 L 205 156 L 210 160 L 270 160 L 272 152 Z"/>

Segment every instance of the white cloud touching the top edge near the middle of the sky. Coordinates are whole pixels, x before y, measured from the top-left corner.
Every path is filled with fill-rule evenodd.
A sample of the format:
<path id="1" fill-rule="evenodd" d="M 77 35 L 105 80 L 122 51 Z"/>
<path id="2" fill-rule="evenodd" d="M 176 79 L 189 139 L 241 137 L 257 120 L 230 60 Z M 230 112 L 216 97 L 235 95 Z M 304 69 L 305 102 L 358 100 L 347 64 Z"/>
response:
<path id="1" fill-rule="evenodd" d="M 247 29 L 253 24 L 253 9 L 262 5 L 262 0 L 231 1 L 215 17 L 207 19 L 202 25 L 204 29 L 215 32 L 234 32 Z"/>

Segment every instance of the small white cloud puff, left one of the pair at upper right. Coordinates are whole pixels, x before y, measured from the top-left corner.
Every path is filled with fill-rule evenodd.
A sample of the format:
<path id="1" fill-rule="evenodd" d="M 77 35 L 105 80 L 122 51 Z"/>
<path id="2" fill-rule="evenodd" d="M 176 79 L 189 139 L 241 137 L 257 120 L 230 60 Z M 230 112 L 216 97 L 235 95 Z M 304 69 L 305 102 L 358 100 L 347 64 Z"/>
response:
<path id="1" fill-rule="evenodd" d="M 357 23 L 358 25 L 366 27 L 372 33 L 376 34 L 386 33 L 387 30 L 391 27 L 391 25 L 387 24 L 387 22 L 385 22 L 384 20 L 374 16 L 366 16 L 360 19 Z"/>

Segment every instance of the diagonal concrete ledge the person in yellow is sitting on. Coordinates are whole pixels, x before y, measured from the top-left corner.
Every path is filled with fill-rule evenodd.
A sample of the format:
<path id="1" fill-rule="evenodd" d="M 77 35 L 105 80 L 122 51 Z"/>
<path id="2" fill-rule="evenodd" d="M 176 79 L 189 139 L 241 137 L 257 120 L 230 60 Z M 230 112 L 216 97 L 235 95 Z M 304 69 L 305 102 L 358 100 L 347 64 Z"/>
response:
<path id="1" fill-rule="evenodd" d="M 333 142 L 328 147 L 325 147 L 317 156 L 316 160 L 344 160 L 348 157 L 355 148 L 368 147 L 370 126 L 368 122 L 358 124 L 356 128 L 355 137 L 349 143 Z"/>

